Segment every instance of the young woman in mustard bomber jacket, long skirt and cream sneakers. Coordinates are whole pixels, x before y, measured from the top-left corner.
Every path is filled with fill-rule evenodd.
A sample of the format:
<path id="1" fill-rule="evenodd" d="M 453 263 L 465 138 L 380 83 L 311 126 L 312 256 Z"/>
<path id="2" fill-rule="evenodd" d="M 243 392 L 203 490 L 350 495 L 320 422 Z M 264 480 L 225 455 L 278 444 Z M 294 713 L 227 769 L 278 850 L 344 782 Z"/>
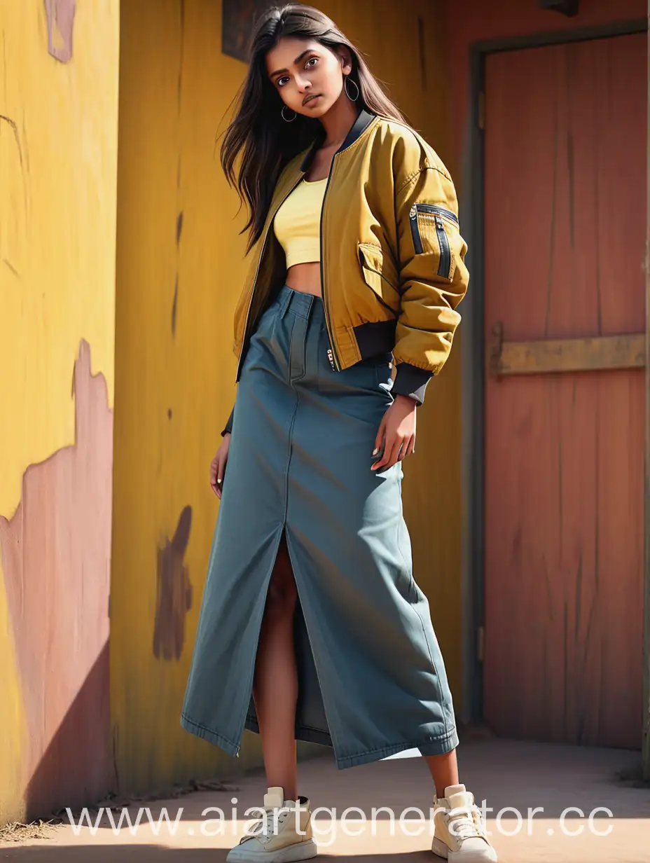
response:
<path id="1" fill-rule="evenodd" d="M 332 746 L 339 768 L 419 748 L 432 850 L 495 860 L 458 782 L 401 507 L 417 408 L 469 279 L 451 178 L 350 41 L 300 4 L 256 28 L 221 156 L 254 249 L 181 724 L 231 755 L 244 728 L 261 735 L 262 818 L 228 860 L 316 854 L 296 740 Z"/>

